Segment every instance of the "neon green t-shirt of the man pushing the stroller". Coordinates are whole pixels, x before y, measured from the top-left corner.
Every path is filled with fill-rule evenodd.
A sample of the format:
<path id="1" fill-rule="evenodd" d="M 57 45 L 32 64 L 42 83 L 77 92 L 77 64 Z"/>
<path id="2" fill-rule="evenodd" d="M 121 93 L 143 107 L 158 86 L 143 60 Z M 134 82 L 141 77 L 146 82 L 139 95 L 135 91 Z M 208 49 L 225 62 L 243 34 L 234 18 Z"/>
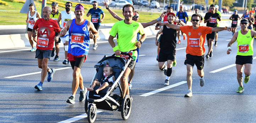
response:
<path id="1" fill-rule="evenodd" d="M 137 49 L 135 42 L 138 33 L 144 34 L 144 28 L 141 23 L 133 21 L 131 24 L 126 24 L 124 20 L 116 22 L 109 32 L 111 36 L 117 36 L 117 45 L 121 52 Z"/>

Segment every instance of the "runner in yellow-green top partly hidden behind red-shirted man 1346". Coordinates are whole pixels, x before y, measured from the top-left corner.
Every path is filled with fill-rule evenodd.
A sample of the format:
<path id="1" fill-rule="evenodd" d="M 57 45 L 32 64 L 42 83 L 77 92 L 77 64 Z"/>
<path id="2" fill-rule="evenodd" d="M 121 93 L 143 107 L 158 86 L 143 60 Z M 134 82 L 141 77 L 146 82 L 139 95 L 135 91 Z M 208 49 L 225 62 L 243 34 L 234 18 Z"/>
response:
<path id="1" fill-rule="evenodd" d="M 58 6 L 57 2 L 51 3 L 52 11 L 51 11 L 50 17 L 52 19 L 54 19 L 55 21 L 57 21 L 60 16 L 60 12 L 59 12 L 58 8 L 59 8 L 59 6 Z M 58 35 L 58 33 L 55 33 L 55 36 L 57 36 L 57 35 Z M 61 39 L 59 38 L 59 40 L 54 43 L 55 44 L 54 46 L 56 47 L 56 56 L 53 61 L 59 61 L 59 52 L 60 52 L 59 43 L 60 42 L 61 42 Z M 55 47 L 52 48 L 51 57 L 54 57 Z"/>

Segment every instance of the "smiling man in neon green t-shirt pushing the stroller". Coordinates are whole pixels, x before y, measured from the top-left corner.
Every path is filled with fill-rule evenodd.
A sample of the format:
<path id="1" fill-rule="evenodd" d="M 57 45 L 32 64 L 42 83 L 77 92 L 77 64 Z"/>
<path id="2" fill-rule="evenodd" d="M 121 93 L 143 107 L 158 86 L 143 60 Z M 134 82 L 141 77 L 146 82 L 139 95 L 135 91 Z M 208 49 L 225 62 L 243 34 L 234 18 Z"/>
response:
<path id="1" fill-rule="evenodd" d="M 119 56 L 121 52 L 127 52 L 133 56 L 132 61 L 129 63 L 128 68 L 125 70 L 120 79 L 124 97 L 125 95 L 129 95 L 127 77 L 136 64 L 135 60 L 138 57 L 136 49 L 137 47 L 140 47 L 141 43 L 146 39 L 146 34 L 144 34 L 143 26 L 140 23 L 132 20 L 132 17 L 135 16 L 133 5 L 127 4 L 123 6 L 123 16 L 124 20 L 116 22 L 111 28 L 108 42 L 113 47 L 113 51 L 115 52 L 116 56 Z M 136 41 L 138 32 L 141 34 L 141 38 L 139 41 Z M 113 38 L 116 37 L 116 35 L 118 35 L 117 46 L 113 41 Z"/>

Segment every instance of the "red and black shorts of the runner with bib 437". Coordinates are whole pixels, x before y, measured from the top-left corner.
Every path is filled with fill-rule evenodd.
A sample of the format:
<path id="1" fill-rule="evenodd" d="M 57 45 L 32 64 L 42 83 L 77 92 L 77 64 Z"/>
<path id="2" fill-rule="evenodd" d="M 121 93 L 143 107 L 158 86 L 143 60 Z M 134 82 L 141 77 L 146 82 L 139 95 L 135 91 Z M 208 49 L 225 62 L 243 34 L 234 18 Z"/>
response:
<path id="1" fill-rule="evenodd" d="M 83 63 L 85 62 L 87 55 L 79 55 L 79 56 L 73 56 L 72 54 L 67 54 L 68 60 L 70 61 L 70 65 L 72 69 L 74 67 L 82 68 Z"/>

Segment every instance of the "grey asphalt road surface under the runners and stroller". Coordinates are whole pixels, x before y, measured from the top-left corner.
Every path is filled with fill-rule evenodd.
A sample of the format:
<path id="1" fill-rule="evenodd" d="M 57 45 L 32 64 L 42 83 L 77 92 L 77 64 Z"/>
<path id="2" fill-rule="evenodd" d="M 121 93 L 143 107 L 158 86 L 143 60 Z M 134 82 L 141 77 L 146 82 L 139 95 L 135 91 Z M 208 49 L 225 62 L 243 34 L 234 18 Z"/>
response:
<path id="1" fill-rule="evenodd" d="M 159 70 L 156 61 L 155 37 L 149 35 L 142 44 L 141 56 L 135 67 L 133 86 L 130 90 L 134 99 L 130 117 L 127 121 L 123 121 L 118 111 L 98 109 L 102 112 L 97 114 L 95 123 L 255 123 L 256 66 L 252 66 L 250 82 L 244 84 L 243 93 L 236 93 L 239 85 L 234 66 L 212 72 L 235 64 L 236 43 L 232 46 L 232 53 L 226 54 L 228 44 L 226 40 L 231 38 L 231 32 L 219 32 L 218 46 L 213 46 L 213 56 L 205 60 L 205 85 L 200 86 L 199 76 L 194 68 L 193 97 L 184 97 L 188 92 L 187 83 L 184 82 L 187 74 L 184 65 L 186 55 L 184 47 L 187 44 L 182 40 L 182 43 L 177 45 L 177 65 L 173 67 L 170 86 L 165 86 L 163 84 L 166 76 Z M 69 68 L 70 65 L 62 64 L 63 47 L 59 54 L 60 61 L 55 62 L 51 58 L 48 66 L 67 69 L 57 70 L 51 82 L 45 80 L 42 91 L 34 89 L 39 83 L 41 69 L 38 68 L 37 59 L 34 58 L 35 52 L 29 50 L 29 47 L 0 50 L 0 122 L 57 123 L 66 120 L 65 122 L 87 123 L 84 102 L 78 101 L 79 92 L 76 95 L 76 104 L 66 103 L 72 91 L 72 69 Z M 89 87 L 96 72 L 94 65 L 104 55 L 110 56 L 113 53 L 107 41 L 99 41 L 97 50 L 92 50 L 92 45 L 90 46 L 88 58 L 81 70 L 85 87 Z M 34 72 L 38 73 L 31 74 Z M 29 73 L 30 75 L 22 75 Z M 21 76 L 11 77 L 17 75 Z M 172 87 L 173 84 L 177 86 Z M 165 87 L 168 89 L 141 96 Z M 115 90 L 114 93 L 118 94 L 119 90 Z"/>

